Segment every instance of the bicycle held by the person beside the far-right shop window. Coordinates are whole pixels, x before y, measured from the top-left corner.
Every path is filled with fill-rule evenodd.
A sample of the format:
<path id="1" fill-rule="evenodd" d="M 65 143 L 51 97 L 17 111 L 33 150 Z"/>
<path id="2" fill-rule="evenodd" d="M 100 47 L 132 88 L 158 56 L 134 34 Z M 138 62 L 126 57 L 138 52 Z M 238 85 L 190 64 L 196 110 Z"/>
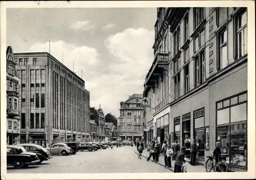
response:
<path id="1" fill-rule="evenodd" d="M 205 170 L 206 172 L 210 172 L 211 169 L 214 170 L 214 172 L 227 172 L 227 164 L 226 164 L 226 157 L 221 156 L 221 160 L 214 164 L 213 157 L 212 156 L 207 156 L 208 160 L 205 163 Z"/>

